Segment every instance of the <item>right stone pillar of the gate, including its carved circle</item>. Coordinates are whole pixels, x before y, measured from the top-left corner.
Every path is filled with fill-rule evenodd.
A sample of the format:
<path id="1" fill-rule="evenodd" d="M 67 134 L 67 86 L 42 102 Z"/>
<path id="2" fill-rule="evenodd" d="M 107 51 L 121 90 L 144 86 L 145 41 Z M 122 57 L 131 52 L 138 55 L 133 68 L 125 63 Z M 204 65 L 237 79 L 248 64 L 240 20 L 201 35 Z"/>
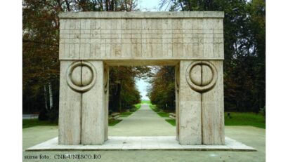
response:
<path id="1" fill-rule="evenodd" d="M 180 62 L 180 144 L 224 144 L 222 60 Z"/>

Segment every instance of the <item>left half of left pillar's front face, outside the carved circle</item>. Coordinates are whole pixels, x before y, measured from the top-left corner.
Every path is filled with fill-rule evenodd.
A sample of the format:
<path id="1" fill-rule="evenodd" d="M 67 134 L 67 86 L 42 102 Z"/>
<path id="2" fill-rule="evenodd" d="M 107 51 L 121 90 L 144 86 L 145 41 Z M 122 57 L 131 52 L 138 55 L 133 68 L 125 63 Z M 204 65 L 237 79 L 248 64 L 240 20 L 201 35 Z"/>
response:
<path id="1" fill-rule="evenodd" d="M 81 142 L 81 93 L 67 84 L 67 69 L 73 61 L 60 61 L 59 144 L 77 145 Z M 79 74 L 74 74 L 74 77 Z"/>

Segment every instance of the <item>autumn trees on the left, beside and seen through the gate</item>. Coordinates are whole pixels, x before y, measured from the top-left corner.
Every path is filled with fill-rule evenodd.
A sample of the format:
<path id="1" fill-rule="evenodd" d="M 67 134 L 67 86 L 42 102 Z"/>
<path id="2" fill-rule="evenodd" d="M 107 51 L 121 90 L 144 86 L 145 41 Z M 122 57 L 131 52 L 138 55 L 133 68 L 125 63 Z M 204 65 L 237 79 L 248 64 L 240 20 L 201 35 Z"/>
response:
<path id="1" fill-rule="evenodd" d="M 39 119 L 55 120 L 59 100 L 59 18 L 68 11 L 133 11 L 136 0 L 23 0 L 22 2 L 22 105 L 25 113 L 40 113 Z M 112 68 L 110 99 L 112 110 L 130 108 L 140 102 L 134 77 L 145 67 Z M 133 74 L 130 76 L 130 72 Z M 120 74 L 123 76 L 120 76 Z M 127 76 L 127 77 L 126 77 Z M 114 80 L 112 79 L 113 77 Z M 117 108 L 119 107 L 119 108 Z"/>

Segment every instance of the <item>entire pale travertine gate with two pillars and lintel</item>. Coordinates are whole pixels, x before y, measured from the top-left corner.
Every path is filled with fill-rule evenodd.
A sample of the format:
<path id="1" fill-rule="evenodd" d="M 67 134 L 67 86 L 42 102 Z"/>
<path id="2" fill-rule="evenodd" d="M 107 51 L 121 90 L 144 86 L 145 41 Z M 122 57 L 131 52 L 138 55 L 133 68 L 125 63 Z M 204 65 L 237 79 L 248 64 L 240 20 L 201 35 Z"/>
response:
<path id="1" fill-rule="evenodd" d="M 109 66 L 173 65 L 176 139 L 224 144 L 223 12 L 60 14 L 58 144 L 108 140 Z"/>

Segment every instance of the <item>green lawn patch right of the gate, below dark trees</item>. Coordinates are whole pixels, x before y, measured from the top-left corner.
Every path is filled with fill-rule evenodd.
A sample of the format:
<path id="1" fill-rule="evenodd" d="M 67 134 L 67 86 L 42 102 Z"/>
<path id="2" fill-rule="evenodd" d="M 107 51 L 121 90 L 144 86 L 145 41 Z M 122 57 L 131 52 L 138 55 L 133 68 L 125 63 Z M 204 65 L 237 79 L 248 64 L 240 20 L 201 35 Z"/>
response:
<path id="1" fill-rule="evenodd" d="M 230 112 L 231 119 L 225 112 L 225 126 L 255 126 L 266 128 L 265 117 L 252 112 Z"/>

